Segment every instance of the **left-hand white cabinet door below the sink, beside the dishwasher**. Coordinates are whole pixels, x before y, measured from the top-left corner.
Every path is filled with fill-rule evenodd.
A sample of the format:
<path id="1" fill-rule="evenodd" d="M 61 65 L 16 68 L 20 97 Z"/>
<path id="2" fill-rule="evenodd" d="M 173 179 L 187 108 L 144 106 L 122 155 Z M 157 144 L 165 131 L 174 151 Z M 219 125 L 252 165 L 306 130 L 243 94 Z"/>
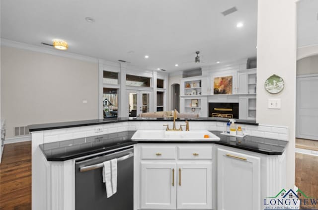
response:
<path id="1" fill-rule="evenodd" d="M 176 209 L 176 163 L 141 163 L 141 208 Z"/>

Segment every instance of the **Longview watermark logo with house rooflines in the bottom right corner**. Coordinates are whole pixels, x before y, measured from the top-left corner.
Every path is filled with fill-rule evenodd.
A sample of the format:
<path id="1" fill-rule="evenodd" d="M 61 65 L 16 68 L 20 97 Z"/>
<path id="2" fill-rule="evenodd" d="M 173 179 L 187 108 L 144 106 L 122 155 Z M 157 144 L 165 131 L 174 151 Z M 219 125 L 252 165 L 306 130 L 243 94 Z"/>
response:
<path id="1" fill-rule="evenodd" d="M 263 201 L 264 210 L 317 210 L 318 199 L 307 196 L 298 189 L 296 192 L 292 189 L 286 191 L 282 189 L 276 196 L 267 197 Z"/>

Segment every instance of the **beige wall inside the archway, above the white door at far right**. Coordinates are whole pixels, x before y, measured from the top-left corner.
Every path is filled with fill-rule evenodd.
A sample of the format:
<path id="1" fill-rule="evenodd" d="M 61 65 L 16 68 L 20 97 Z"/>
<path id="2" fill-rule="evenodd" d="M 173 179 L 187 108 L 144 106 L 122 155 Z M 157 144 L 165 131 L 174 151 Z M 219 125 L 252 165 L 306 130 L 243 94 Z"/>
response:
<path id="1" fill-rule="evenodd" d="M 318 55 L 297 61 L 297 75 L 318 73 Z"/>

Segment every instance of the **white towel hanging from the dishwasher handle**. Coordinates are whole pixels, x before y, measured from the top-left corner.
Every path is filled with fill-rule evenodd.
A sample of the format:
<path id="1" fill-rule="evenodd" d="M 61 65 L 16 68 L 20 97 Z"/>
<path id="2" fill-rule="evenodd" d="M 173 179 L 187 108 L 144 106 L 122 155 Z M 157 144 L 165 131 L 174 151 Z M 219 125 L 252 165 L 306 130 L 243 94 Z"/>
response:
<path id="1" fill-rule="evenodd" d="M 104 162 L 102 176 L 106 186 L 107 198 L 109 198 L 117 192 L 117 159 Z"/>

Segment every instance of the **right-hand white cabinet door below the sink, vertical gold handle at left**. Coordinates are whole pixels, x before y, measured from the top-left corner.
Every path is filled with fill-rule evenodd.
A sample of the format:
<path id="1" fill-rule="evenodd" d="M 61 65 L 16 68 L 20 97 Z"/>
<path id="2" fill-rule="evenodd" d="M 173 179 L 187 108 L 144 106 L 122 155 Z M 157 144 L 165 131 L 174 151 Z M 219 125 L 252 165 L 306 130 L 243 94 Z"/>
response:
<path id="1" fill-rule="evenodd" d="M 212 209 L 212 162 L 177 163 L 177 209 Z"/>

